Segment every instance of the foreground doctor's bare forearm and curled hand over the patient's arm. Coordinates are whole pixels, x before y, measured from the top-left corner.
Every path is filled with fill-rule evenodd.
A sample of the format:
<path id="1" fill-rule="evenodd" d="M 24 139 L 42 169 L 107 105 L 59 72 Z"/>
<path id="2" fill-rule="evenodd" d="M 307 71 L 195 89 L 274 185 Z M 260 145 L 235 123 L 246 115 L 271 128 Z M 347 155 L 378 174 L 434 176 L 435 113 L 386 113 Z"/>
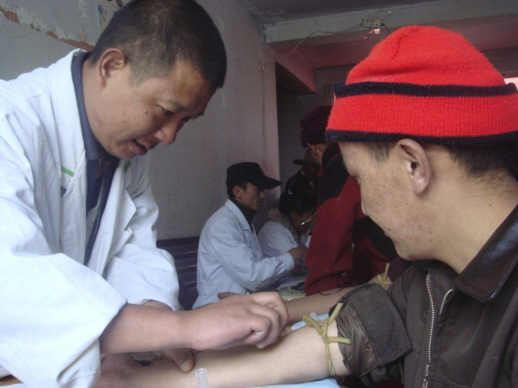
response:
<path id="1" fill-rule="evenodd" d="M 191 311 L 127 304 L 101 335 L 104 354 L 171 348 L 266 347 L 279 340 L 288 312 L 277 292 L 233 295 Z"/>

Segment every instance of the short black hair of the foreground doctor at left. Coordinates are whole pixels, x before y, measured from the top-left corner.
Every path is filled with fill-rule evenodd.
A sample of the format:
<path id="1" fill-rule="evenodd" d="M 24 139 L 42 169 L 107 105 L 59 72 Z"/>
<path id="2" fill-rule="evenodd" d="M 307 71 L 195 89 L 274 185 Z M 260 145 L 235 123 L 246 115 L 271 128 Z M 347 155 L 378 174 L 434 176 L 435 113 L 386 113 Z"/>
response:
<path id="1" fill-rule="evenodd" d="M 119 48 L 132 68 L 132 82 L 165 77 L 184 60 L 213 89 L 225 82 L 227 54 L 210 15 L 194 0 L 132 0 L 115 12 L 91 52 L 97 63 Z"/>

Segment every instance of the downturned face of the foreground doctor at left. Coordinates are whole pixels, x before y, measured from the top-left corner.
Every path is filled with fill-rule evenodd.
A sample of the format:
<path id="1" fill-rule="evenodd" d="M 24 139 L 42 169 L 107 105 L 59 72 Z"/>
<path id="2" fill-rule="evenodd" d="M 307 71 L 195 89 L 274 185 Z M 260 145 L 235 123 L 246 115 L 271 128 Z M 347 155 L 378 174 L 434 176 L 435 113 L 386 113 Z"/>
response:
<path id="1" fill-rule="evenodd" d="M 130 65 L 106 77 L 90 117 L 94 136 L 108 153 L 121 159 L 145 155 L 174 143 L 182 126 L 203 115 L 214 90 L 189 63 L 177 62 L 169 75 L 138 84 Z"/>

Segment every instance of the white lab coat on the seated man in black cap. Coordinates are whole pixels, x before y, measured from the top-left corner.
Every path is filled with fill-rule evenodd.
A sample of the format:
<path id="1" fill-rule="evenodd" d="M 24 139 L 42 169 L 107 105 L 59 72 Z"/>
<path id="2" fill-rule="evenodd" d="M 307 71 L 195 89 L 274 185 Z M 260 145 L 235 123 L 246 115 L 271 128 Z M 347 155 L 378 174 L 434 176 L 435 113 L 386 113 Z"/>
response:
<path id="1" fill-rule="evenodd" d="M 194 308 L 217 302 L 218 292 L 244 294 L 281 278 L 295 265 L 288 252 L 263 257 L 255 230 L 231 200 L 203 226 L 198 245 Z"/>

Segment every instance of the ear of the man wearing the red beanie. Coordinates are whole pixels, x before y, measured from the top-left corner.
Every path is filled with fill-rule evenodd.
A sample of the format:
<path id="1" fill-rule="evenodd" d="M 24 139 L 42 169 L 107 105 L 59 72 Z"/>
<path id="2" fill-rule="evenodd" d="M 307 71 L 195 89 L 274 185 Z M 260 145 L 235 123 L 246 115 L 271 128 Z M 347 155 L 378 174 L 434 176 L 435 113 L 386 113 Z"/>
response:
<path id="1" fill-rule="evenodd" d="M 405 166 L 405 172 L 412 182 L 415 194 L 422 194 L 427 190 L 433 171 L 427 151 L 417 141 L 403 138 L 398 141 L 398 156 Z"/>

